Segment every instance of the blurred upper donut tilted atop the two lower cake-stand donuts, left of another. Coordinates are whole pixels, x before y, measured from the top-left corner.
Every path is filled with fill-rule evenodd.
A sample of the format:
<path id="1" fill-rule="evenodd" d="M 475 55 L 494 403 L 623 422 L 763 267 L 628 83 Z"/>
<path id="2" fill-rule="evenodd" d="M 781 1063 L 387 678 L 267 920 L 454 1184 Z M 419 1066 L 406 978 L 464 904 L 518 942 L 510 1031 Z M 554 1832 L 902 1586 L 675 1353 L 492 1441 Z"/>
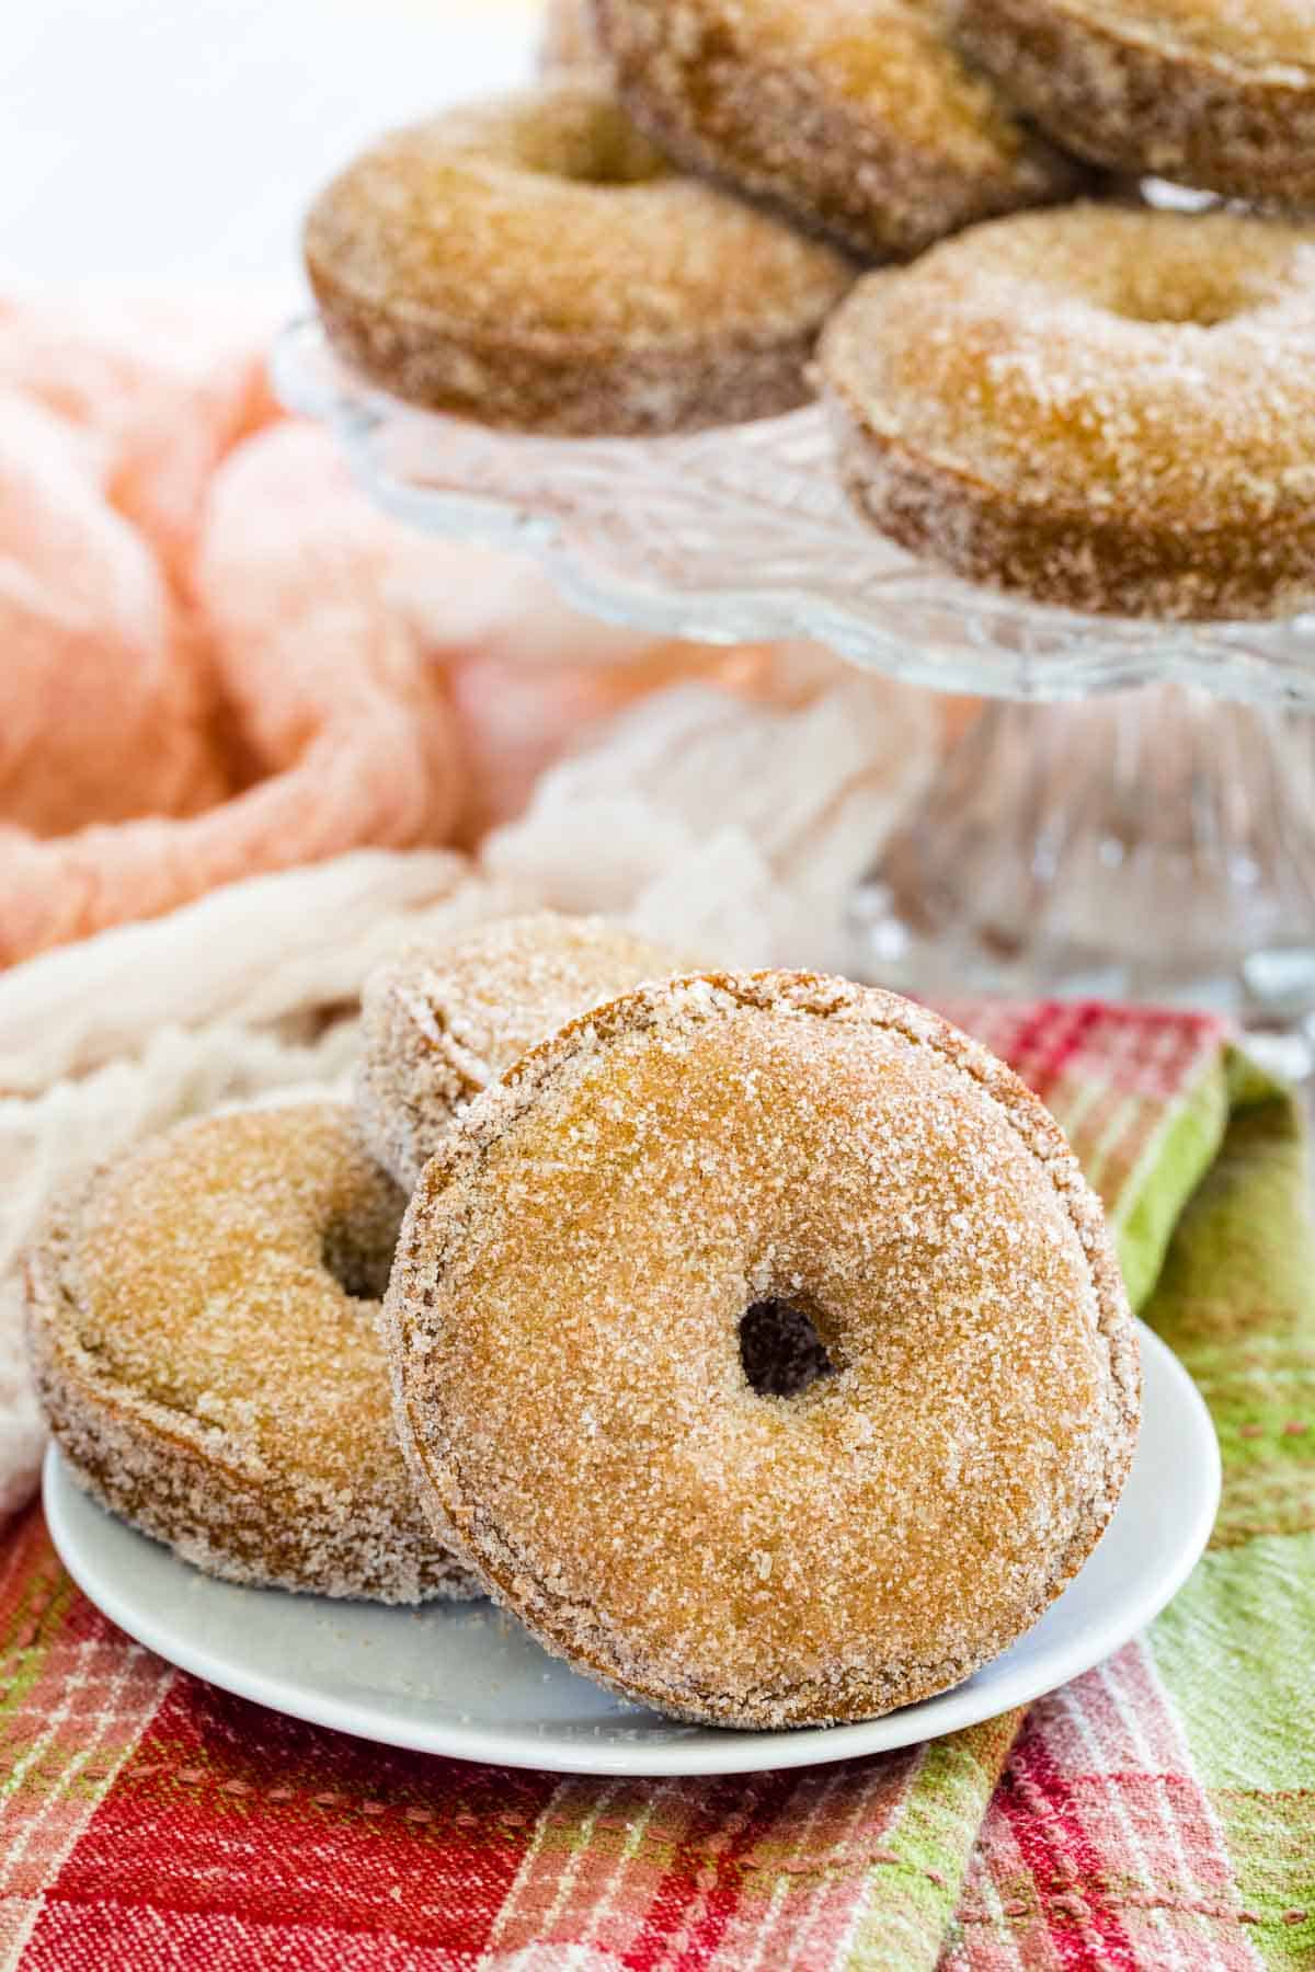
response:
<path id="1" fill-rule="evenodd" d="M 662 150 L 864 260 L 1071 197 L 1084 172 L 968 69 L 929 0 L 597 0 Z"/>

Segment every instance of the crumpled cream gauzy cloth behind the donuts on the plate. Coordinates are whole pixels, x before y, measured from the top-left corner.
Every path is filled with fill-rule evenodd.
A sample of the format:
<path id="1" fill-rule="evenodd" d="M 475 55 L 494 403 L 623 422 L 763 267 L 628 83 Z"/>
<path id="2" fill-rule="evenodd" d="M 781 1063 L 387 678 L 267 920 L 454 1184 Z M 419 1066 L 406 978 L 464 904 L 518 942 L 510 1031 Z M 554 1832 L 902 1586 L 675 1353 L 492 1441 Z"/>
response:
<path id="1" fill-rule="evenodd" d="M 810 653 L 783 663 L 773 704 L 680 686 L 613 720 L 479 868 L 361 850 L 0 974 L 0 1516 L 41 1453 L 22 1254 L 51 1199 L 181 1116 L 341 1087 L 390 951 L 550 903 L 720 962 L 838 962 L 844 893 L 933 767 L 933 712 Z"/>

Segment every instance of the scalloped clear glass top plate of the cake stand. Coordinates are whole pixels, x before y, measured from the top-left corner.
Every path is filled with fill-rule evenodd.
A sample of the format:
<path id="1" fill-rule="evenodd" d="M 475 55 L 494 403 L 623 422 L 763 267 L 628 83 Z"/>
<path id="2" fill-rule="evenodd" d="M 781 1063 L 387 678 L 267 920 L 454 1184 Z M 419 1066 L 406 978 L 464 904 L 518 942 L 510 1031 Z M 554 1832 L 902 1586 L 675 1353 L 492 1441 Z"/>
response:
<path id="1" fill-rule="evenodd" d="M 702 643 L 810 639 L 942 692 L 1057 700 L 1177 680 L 1315 706 L 1315 611 L 1272 623 L 1074 615 L 915 560 L 850 509 L 816 404 L 655 440 L 503 432 L 373 388 L 315 316 L 284 329 L 270 373 L 288 410 L 337 436 L 381 507 L 536 556 L 588 615 Z"/>

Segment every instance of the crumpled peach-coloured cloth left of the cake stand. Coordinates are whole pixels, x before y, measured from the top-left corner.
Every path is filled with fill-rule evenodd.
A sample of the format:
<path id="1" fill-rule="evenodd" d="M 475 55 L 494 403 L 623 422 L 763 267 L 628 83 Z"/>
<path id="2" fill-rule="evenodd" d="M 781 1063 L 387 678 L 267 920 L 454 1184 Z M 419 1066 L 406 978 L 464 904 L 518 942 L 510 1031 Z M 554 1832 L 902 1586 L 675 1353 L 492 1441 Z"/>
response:
<path id="1" fill-rule="evenodd" d="M 469 842 L 589 716 L 718 663 L 599 639 L 542 578 L 375 513 L 280 418 L 270 327 L 0 302 L 0 964 L 264 870 Z M 639 663 L 603 678 L 599 645 Z"/>

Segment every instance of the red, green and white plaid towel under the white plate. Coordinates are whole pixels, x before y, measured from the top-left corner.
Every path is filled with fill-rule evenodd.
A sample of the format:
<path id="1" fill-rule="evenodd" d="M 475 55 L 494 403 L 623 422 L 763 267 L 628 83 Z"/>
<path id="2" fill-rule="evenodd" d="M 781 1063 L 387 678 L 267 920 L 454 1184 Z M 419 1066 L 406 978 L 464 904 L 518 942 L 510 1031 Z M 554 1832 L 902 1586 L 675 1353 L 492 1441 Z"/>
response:
<path id="1" fill-rule="evenodd" d="M 1224 1449 L 1211 1552 L 1110 1662 L 810 1773 L 394 1753 L 128 1643 L 0 1552 L 0 1966 L 1315 1964 L 1315 1250 L 1293 1104 L 1211 1020 L 958 1006 L 1061 1116 Z"/>

